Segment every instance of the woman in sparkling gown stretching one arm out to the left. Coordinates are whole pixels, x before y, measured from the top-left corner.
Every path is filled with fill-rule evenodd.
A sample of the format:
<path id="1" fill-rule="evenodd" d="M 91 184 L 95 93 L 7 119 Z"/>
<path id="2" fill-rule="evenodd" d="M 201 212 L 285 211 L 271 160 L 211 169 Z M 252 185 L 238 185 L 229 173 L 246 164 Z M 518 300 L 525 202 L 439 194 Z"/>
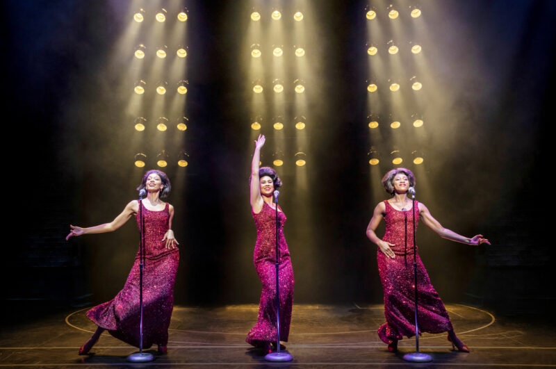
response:
<path id="1" fill-rule="evenodd" d="M 149 170 L 137 190 L 147 190 L 147 197 L 132 200 L 124 211 L 112 222 L 95 227 L 81 228 L 70 225 L 72 236 L 88 233 L 104 233 L 122 227 L 131 215 L 135 215 L 140 227 L 139 206 L 145 227 L 145 265 L 143 269 L 143 347 L 158 345 L 158 352 L 167 352 L 168 327 L 174 306 L 174 282 L 178 269 L 179 252 L 172 231 L 174 207 L 161 198 L 170 194 L 170 180 L 160 170 Z M 139 262 L 140 252 L 127 277 L 124 289 L 113 300 L 95 306 L 87 312 L 87 317 L 98 326 L 89 341 L 79 349 L 79 354 L 87 354 L 106 329 L 115 338 L 139 347 L 140 302 L 139 302 Z"/>

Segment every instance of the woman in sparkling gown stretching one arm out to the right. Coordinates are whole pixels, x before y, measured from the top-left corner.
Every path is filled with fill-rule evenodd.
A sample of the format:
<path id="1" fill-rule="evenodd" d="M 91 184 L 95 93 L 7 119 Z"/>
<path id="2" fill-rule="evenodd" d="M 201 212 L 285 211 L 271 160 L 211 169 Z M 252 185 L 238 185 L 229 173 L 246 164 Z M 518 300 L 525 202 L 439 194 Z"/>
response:
<path id="1" fill-rule="evenodd" d="M 373 213 L 367 227 L 367 237 L 378 245 L 377 262 L 382 287 L 384 288 L 384 315 L 386 323 L 378 329 L 378 335 L 384 343 L 388 344 L 388 350 L 396 352 L 398 341 L 403 336 L 411 337 L 415 334 L 415 292 L 414 292 L 414 229 L 419 220 L 430 227 L 443 238 L 466 243 L 469 245 L 480 245 L 489 240 L 477 235 L 473 238 L 460 236 L 459 234 L 445 229 L 430 215 L 429 209 L 424 204 L 415 202 L 413 208 L 411 199 L 407 198 L 409 187 L 415 186 L 414 174 L 405 168 L 396 168 L 386 173 L 382 184 L 393 197 L 380 202 Z M 386 222 L 386 233 L 382 240 L 377 237 L 377 229 L 380 220 Z M 444 308 L 439 294 L 432 287 L 427 270 L 417 260 L 417 288 L 418 288 L 418 324 L 419 331 L 428 333 L 442 333 L 448 331 L 448 341 L 452 343 L 452 349 L 469 352 L 468 347 L 457 338 Z"/>

